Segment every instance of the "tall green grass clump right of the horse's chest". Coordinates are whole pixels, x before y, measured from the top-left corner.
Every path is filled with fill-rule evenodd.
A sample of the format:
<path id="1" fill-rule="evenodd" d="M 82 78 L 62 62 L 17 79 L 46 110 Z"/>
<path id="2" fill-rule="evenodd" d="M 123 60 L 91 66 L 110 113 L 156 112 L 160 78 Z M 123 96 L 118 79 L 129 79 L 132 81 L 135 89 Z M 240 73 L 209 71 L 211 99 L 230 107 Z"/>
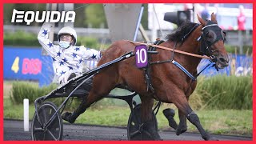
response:
<path id="1" fill-rule="evenodd" d="M 199 77 L 190 104 L 197 110 L 251 110 L 252 83 L 252 76 L 219 74 L 210 78 Z"/>

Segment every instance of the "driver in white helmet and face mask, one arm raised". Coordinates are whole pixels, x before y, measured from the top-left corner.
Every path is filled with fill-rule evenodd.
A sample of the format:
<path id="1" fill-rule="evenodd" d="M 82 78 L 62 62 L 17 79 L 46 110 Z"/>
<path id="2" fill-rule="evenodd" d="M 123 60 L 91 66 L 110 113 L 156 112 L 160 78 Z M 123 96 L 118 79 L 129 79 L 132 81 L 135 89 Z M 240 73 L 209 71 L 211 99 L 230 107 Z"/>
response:
<path id="1" fill-rule="evenodd" d="M 54 45 L 48 38 L 53 25 L 54 23 L 42 25 L 38 34 L 38 41 L 53 59 L 54 74 L 57 76 L 59 84 L 64 85 L 70 78 L 82 74 L 85 60 L 99 61 L 102 57 L 102 51 L 75 46 L 77 33 L 70 26 L 59 30 L 59 45 Z"/>

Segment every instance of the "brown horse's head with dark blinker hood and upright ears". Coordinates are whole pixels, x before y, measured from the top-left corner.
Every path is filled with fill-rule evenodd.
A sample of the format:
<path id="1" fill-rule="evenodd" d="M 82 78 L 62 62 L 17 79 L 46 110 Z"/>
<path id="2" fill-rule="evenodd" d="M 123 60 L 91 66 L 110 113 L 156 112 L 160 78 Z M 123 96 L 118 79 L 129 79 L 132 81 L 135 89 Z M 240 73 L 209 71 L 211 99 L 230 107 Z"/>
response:
<path id="1" fill-rule="evenodd" d="M 204 21 L 198 16 L 199 22 L 202 24 L 201 35 L 201 52 L 210 56 L 216 66 L 222 69 L 229 65 L 229 57 L 225 50 L 225 33 L 218 26 L 215 14 L 211 14 L 211 20 Z"/>

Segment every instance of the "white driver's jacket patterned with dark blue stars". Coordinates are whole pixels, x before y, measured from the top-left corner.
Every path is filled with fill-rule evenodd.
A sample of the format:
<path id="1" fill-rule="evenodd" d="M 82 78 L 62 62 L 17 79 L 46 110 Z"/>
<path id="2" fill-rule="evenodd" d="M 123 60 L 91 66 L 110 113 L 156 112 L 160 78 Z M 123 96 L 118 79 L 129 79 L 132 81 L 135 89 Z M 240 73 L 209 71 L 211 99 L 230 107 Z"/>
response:
<path id="1" fill-rule="evenodd" d="M 85 60 L 99 61 L 101 54 L 98 50 L 84 46 L 70 46 L 67 49 L 63 49 L 58 45 L 54 45 L 48 39 L 52 26 L 52 23 L 44 23 L 42 25 L 38 34 L 38 41 L 52 57 L 54 73 L 58 77 L 58 82 L 63 84 L 63 79 L 68 78 L 70 74 L 82 74 L 82 66 Z"/>

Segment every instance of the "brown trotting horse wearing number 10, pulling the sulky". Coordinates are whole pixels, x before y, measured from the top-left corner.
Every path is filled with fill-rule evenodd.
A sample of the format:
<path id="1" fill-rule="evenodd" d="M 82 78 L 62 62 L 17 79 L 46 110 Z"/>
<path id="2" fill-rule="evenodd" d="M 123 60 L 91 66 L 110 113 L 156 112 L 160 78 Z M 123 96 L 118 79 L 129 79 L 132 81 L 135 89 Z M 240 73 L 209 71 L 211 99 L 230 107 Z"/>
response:
<path id="1" fill-rule="evenodd" d="M 207 21 L 198 16 L 198 21 L 201 25 L 186 22 L 174 34 L 169 34 L 166 37 L 167 41 L 162 42 L 160 46 L 183 50 L 191 54 L 210 56 L 215 62 L 216 69 L 228 66 L 229 58 L 224 46 L 225 34 L 219 28 L 215 15 L 211 14 L 211 20 Z M 186 40 L 184 40 L 184 35 L 186 35 Z M 133 51 L 135 46 L 138 45 L 126 40 L 114 42 L 106 50 L 102 59 L 98 62 L 98 66 Z M 142 101 L 141 119 L 144 124 L 143 130 L 150 133 L 155 140 L 161 140 L 161 138 L 158 131 L 154 129 L 152 121 L 151 113 L 154 99 L 161 102 L 174 103 L 178 107 L 180 122 L 176 128 L 176 134 L 182 134 L 186 131 L 186 119 L 188 119 L 198 128 L 203 139 L 217 140 L 206 133 L 200 124 L 198 115 L 194 113 L 188 103 L 197 81 L 192 80 L 174 63 L 166 61 L 173 58 L 172 60 L 182 65 L 190 74 L 196 75 L 198 74 L 197 66 L 202 58 L 158 48 L 156 50 L 158 54 L 152 55 L 151 61 L 160 63 L 150 66 L 151 84 L 154 86 L 154 91 L 147 90 L 144 71 L 135 66 L 134 57 L 114 63 L 94 76 L 93 86 L 86 100 L 82 102 L 73 114 L 67 115 L 70 118 L 70 122 L 74 122 L 79 114 L 82 114 L 94 102 L 104 98 L 116 86 L 122 85 L 139 94 Z"/>

